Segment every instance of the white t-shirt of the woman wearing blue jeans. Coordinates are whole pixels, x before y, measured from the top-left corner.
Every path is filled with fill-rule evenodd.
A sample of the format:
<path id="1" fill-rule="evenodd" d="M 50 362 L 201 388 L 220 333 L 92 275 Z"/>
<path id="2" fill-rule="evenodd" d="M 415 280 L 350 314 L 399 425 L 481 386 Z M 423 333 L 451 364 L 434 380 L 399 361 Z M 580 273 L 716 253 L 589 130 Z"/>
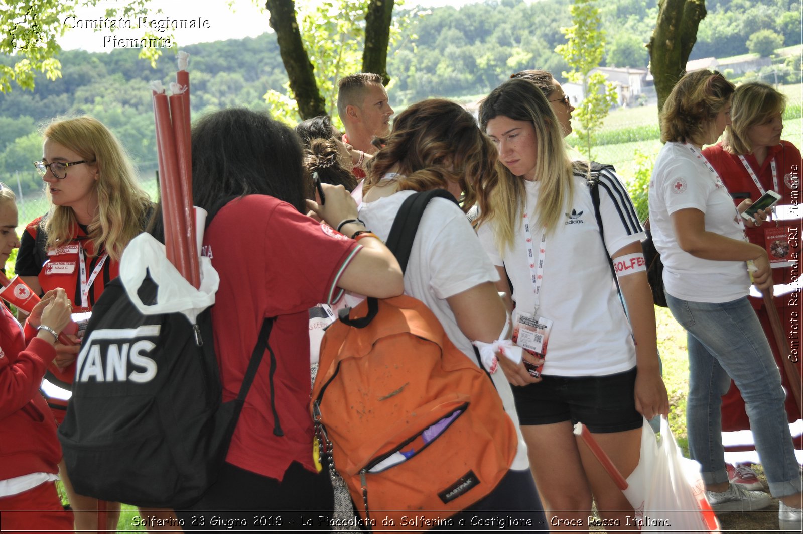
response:
<path id="1" fill-rule="evenodd" d="M 728 189 L 694 150 L 684 143 L 666 143 L 650 179 L 650 231 L 661 253 L 663 285 L 675 298 L 731 302 L 750 289 L 745 262 L 703 260 L 684 252 L 672 225 L 672 213 L 693 207 L 705 215 L 707 232 L 744 239 L 744 226 Z"/>

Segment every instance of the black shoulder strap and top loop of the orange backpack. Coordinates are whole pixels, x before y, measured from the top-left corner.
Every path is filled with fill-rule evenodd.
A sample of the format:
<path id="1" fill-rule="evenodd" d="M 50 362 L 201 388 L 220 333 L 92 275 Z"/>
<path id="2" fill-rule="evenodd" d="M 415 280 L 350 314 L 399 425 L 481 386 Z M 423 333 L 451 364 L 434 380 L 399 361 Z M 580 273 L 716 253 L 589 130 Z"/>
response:
<path id="1" fill-rule="evenodd" d="M 445 189 L 432 189 L 430 191 L 419 191 L 410 195 L 399 207 L 393 226 L 390 227 L 388 240 L 385 243 L 390 252 L 396 257 L 402 267 L 402 274 L 407 269 L 407 261 L 410 261 L 410 251 L 413 249 L 415 233 L 418 231 L 418 223 L 424 215 L 424 209 L 431 199 L 440 197 L 450 200 L 457 205 L 457 200 Z M 365 317 L 349 318 L 349 310 L 340 310 L 338 317 L 349 327 L 365 328 L 373 320 L 379 311 L 379 301 L 377 298 L 368 298 L 368 314 Z"/>

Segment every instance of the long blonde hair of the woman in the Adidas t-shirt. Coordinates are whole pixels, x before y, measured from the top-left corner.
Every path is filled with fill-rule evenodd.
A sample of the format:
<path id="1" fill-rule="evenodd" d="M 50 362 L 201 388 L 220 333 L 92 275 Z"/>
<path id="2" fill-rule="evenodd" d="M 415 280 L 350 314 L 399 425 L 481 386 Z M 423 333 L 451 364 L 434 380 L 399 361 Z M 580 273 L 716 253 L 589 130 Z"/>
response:
<path id="1" fill-rule="evenodd" d="M 533 216 L 540 228 L 552 232 L 560 221 L 563 209 L 572 198 L 573 163 L 566 151 L 560 122 L 544 93 L 528 80 L 507 80 L 491 91 L 479 106 L 479 123 L 487 130 L 495 117 L 529 121 L 536 131 L 536 178 L 540 183 L 538 203 Z M 514 176 L 502 162 L 496 164 L 497 183 L 479 184 L 480 216 L 477 224 L 495 224 L 499 252 L 511 248 L 516 238 L 526 191 L 524 179 Z"/>

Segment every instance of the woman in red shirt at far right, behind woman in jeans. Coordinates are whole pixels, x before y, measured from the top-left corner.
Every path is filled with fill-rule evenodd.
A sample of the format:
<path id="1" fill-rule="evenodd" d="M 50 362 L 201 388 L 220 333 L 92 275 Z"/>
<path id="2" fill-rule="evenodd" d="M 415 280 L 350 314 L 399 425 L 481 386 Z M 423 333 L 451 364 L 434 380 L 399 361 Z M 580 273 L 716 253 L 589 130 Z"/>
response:
<path id="1" fill-rule="evenodd" d="M 767 248 L 770 260 L 775 260 L 772 264 L 775 284 L 789 284 L 794 275 L 800 273 L 797 270 L 799 267 L 793 266 L 792 261 L 799 260 L 800 254 L 800 216 L 803 212 L 800 207 L 801 153 L 792 143 L 781 141 L 784 107 L 784 96 L 769 85 L 758 82 L 740 85 L 733 93 L 732 124 L 725 129 L 724 139 L 703 150 L 728 191 L 740 197 L 735 203 L 740 203 L 745 196 L 755 202 L 765 191 L 771 190 L 781 195 L 779 204 L 797 206 L 797 210 L 791 210 L 797 211 L 797 220 L 770 220 L 760 227 L 747 228 L 750 242 Z M 795 301 L 797 299 L 793 299 L 792 303 Z M 764 327 L 775 361 L 783 369 L 783 351 L 778 350 L 775 336 L 772 335 L 764 300 L 750 298 L 750 302 Z M 793 311 L 801 312 L 799 304 L 789 304 L 789 294 L 775 298 L 778 316 L 786 327 L 787 339 L 793 334 L 789 331 L 790 314 Z M 785 408 L 790 421 L 801 418 L 797 402 L 789 392 Z M 749 428 L 744 401 L 739 389 L 732 384 L 722 399 L 722 429 L 734 431 Z M 732 482 L 741 483 L 748 489 L 761 487 L 756 474 L 746 466 L 728 466 L 728 474 Z"/>

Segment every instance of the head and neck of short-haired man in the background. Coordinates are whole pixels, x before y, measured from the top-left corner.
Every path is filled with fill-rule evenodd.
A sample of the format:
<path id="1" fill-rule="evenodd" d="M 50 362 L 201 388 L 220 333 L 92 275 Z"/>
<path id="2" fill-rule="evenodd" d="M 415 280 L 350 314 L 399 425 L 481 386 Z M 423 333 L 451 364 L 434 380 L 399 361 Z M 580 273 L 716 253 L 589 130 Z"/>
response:
<path id="1" fill-rule="evenodd" d="M 365 154 L 374 154 L 378 150 L 371 144 L 373 138 L 390 133 L 393 108 L 382 85 L 382 76 L 360 72 L 340 78 L 337 83 L 337 113 L 345 129 L 343 142 L 354 149 L 350 151 L 357 158 L 354 161 L 357 171 Z"/>

